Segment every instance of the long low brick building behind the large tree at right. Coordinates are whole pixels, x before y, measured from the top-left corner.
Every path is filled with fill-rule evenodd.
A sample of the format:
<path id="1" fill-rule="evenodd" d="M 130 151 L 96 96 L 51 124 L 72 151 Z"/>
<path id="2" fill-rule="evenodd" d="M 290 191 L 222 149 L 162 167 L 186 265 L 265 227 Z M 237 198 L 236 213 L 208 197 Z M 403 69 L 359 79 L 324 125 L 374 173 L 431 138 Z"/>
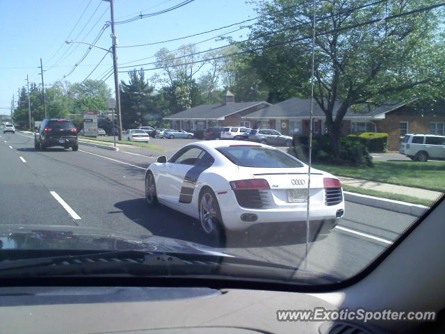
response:
<path id="1" fill-rule="evenodd" d="M 388 134 L 388 150 L 398 150 L 401 138 L 407 133 L 445 134 L 445 111 L 419 115 L 407 103 L 385 104 L 366 111 L 348 110 L 343 118 L 343 134 L 354 132 L 385 132 Z M 339 102 L 334 105 L 334 116 Z M 282 134 L 308 134 L 311 100 L 293 97 L 289 100 L 247 113 L 241 118 L 248 120 L 255 129 L 276 129 Z M 313 133 L 325 134 L 325 114 L 314 103 Z"/>

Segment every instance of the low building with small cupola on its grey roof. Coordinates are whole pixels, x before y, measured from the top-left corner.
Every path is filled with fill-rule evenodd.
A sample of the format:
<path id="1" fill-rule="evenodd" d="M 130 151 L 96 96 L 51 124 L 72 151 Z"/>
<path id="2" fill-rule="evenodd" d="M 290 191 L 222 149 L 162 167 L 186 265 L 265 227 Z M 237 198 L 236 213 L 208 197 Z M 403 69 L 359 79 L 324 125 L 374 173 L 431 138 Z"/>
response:
<path id="1" fill-rule="evenodd" d="M 242 116 L 271 105 L 265 101 L 235 102 L 235 96 L 227 90 L 222 104 L 202 104 L 165 117 L 163 120 L 168 120 L 172 129 L 186 131 L 200 131 L 216 126 L 252 127 L 250 120 L 245 120 Z"/>

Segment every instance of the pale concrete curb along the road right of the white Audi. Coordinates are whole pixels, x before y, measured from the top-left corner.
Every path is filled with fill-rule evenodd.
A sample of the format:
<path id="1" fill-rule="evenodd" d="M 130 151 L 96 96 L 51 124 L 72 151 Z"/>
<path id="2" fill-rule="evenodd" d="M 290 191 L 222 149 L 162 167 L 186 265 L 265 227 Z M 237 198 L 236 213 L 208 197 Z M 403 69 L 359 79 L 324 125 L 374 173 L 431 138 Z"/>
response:
<path id="1" fill-rule="evenodd" d="M 426 212 L 428 207 L 424 205 L 417 205 L 400 200 L 388 200 L 387 198 L 380 198 L 361 193 L 351 193 L 343 191 L 345 200 L 369 207 L 378 207 L 380 209 L 387 209 L 389 211 L 399 212 L 401 214 L 410 214 L 411 216 L 419 217 Z"/>

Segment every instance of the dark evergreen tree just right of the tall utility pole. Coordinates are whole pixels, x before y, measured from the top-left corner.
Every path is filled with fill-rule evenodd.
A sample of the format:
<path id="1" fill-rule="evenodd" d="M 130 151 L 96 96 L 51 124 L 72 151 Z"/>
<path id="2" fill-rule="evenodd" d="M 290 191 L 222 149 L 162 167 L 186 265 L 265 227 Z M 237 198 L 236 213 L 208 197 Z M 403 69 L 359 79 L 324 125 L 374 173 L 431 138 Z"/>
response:
<path id="1" fill-rule="evenodd" d="M 154 87 L 145 80 L 145 72 L 140 69 L 129 72 L 129 83 L 121 81 L 122 125 L 133 128 L 145 124 L 145 118 L 150 118 L 154 110 L 153 93 Z"/>

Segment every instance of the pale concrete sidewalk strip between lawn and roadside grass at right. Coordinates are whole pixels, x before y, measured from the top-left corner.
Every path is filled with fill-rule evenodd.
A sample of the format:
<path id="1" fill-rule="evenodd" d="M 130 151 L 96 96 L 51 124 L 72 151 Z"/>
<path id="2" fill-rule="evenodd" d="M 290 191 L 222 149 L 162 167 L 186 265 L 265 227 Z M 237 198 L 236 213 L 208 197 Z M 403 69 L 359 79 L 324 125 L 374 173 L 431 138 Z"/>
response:
<path id="1" fill-rule="evenodd" d="M 396 184 L 388 184 L 382 182 L 373 182 L 368 180 L 353 179 L 352 177 L 339 177 L 342 184 L 355 186 L 362 189 L 371 189 L 375 191 L 385 191 L 386 193 L 396 193 L 399 195 L 412 196 L 423 200 L 437 200 L 442 193 L 439 191 L 431 191 L 411 186 L 398 186 Z"/>

